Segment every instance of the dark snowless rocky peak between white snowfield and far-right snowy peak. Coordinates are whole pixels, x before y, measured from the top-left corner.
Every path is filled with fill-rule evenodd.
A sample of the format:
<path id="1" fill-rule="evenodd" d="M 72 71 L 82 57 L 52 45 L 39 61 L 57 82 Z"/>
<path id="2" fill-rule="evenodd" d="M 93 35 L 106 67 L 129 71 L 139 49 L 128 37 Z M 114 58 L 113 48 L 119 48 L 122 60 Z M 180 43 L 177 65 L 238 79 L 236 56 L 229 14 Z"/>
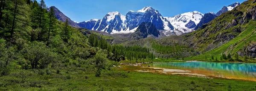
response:
<path id="1" fill-rule="evenodd" d="M 204 24 L 209 23 L 210 21 L 212 21 L 216 17 L 217 16 L 215 14 L 212 14 L 212 13 L 204 14 L 204 17 L 201 19 L 201 21 L 198 23 L 198 25 L 194 28 L 194 30 L 197 30 L 198 28 L 200 28 Z"/>

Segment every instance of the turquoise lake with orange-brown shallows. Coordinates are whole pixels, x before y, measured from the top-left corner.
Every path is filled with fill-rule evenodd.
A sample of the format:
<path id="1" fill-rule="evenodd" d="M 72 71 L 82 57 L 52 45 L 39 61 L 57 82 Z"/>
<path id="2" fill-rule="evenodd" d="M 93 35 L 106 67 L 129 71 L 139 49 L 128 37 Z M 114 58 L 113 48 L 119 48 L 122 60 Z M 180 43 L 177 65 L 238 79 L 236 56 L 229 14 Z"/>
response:
<path id="1" fill-rule="evenodd" d="M 153 68 L 180 69 L 189 72 L 171 72 L 172 74 L 202 74 L 205 76 L 256 81 L 256 63 L 152 63 Z"/>

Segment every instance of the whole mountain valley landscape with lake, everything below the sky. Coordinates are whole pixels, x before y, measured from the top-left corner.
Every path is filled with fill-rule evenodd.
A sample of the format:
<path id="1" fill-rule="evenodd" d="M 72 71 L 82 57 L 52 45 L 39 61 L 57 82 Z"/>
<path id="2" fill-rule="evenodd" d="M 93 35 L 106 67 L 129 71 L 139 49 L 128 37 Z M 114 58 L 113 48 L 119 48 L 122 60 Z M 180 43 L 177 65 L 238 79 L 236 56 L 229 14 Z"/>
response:
<path id="1" fill-rule="evenodd" d="M 146 6 L 80 23 L 60 9 L 0 1 L 0 91 L 256 90 L 256 0 L 216 14 Z"/>

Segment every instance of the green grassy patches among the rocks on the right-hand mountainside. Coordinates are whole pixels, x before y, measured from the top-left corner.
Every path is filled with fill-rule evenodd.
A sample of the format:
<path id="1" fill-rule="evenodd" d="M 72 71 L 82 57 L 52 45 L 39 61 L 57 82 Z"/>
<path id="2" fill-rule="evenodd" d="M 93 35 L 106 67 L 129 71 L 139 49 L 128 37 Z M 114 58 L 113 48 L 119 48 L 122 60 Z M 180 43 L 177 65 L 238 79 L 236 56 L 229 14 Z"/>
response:
<path id="1" fill-rule="evenodd" d="M 211 26 L 210 28 L 216 28 L 216 24 L 217 22 L 222 23 L 222 21 L 228 21 L 231 22 L 233 19 L 236 19 L 237 17 L 241 16 L 241 14 L 239 14 L 239 16 L 234 16 L 233 13 L 235 14 L 235 12 L 247 12 L 248 9 L 251 9 L 252 6 L 255 6 L 256 3 L 253 3 L 253 0 L 248 0 L 245 1 L 244 3 L 242 3 L 240 6 L 238 6 L 236 8 L 236 10 L 232 10 L 232 11 L 228 11 L 227 13 L 222 14 L 220 17 L 217 17 L 215 20 L 212 20 L 209 24 L 209 26 Z M 195 57 L 189 57 L 186 60 L 203 60 L 205 61 L 206 57 L 207 60 L 209 61 L 211 59 L 211 56 L 217 57 L 218 59 L 220 59 L 221 57 L 221 53 L 225 53 L 225 54 L 232 54 L 234 55 L 237 51 L 239 51 L 246 43 L 248 43 L 249 41 L 256 41 L 255 37 L 256 34 L 254 34 L 255 32 L 255 26 L 256 26 L 256 21 L 250 20 L 249 23 L 246 23 L 244 25 L 237 25 L 234 26 L 232 28 L 238 28 L 238 26 L 240 26 L 241 28 L 245 28 L 244 31 L 242 31 L 240 34 L 238 34 L 236 36 L 236 38 L 234 38 L 233 40 L 228 41 L 227 43 L 224 43 L 223 45 L 214 48 L 210 51 L 204 52 L 203 54 L 200 54 L 198 56 Z M 207 26 L 207 28 L 199 30 L 199 31 L 195 31 L 192 32 L 191 34 L 188 34 L 189 36 L 200 36 L 201 34 L 203 34 L 203 32 L 205 32 L 206 29 L 208 29 L 209 27 Z M 227 33 L 232 33 L 233 31 L 231 31 L 232 28 L 226 29 L 224 30 L 224 28 L 222 28 L 220 31 L 212 31 L 211 29 L 208 29 L 208 31 L 212 31 L 213 33 L 208 35 L 208 37 L 201 37 L 201 38 L 196 38 L 193 39 L 195 41 L 201 41 L 201 40 L 206 40 L 203 43 L 199 43 L 199 48 L 197 51 L 204 51 L 204 49 L 206 49 L 206 47 L 212 43 L 212 38 L 211 37 L 215 37 L 217 36 L 219 33 L 221 32 L 227 32 Z M 217 33 L 215 33 L 217 32 Z M 236 35 L 236 34 L 235 34 Z M 241 58 L 240 58 L 241 60 Z"/>

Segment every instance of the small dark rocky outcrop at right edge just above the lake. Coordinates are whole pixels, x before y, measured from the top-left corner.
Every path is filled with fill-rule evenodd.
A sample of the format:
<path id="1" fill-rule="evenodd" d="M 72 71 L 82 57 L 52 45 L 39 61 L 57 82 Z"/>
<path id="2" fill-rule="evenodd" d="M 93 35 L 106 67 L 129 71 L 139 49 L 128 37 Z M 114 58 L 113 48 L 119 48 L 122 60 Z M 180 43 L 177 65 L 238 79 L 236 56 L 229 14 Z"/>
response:
<path id="1" fill-rule="evenodd" d="M 238 54 L 243 57 L 247 56 L 256 58 L 256 42 L 253 41 L 248 43 L 240 51 L 238 51 Z"/>

